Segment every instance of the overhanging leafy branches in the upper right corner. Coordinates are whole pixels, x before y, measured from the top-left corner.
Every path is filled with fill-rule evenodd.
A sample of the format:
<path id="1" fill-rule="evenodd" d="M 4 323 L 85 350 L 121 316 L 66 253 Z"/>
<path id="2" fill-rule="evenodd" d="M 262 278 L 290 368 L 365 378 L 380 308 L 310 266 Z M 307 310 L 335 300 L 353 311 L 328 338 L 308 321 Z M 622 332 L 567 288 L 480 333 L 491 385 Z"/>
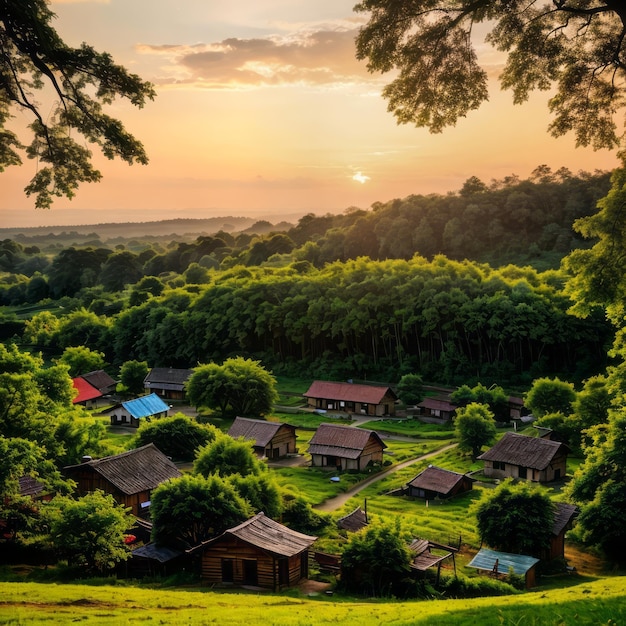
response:
<path id="1" fill-rule="evenodd" d="M 363 0 L 354 9 L 369 14 L 356 40 L 357 58 L 367 59 L 371 72 L 398 71 L 383 95 L 399 123 L 441 132 L 488 99 L 488 75 L 472 40 L 473 27 L 485 23 L 487 42 L 507 54 L 500 81 L 516 104 L 533 90 L 553 89 L 554 136 L 573 131 L 578 145 L 618 145 L 623 3 Z"/>

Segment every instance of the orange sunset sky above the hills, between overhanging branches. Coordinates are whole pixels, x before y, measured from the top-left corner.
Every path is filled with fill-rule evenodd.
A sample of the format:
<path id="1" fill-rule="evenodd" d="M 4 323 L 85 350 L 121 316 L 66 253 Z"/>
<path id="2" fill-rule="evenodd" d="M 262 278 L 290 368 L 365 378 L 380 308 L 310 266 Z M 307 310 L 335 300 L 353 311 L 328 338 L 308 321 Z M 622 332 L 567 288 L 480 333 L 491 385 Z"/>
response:
<path id="1" fill-rule="evenodd" d="M 157 97 L 143 109 L 122 101 L 107 109 L 142 141 L 150 163 L 129 166 L 94 150 L 102 181 L 37 210 L 23 193 L 36 171 L 25 158 L 0 174 L 0 227 L 224 215 L 278 221 L 457 191 L 471 176 L 526 178 L 543 164 L 616 167 L 614 153 L 548 134 L 548 94 L 514 106 L 495 79 L 503 59 L 480 35 L 479 57 L 494 79 L 489 102 L 441 134 L 398 125 L 380 95 L 387 77 L 355 58 L 365 16 L 354 4 L 53 0 L 53 25 L 68 44 L 107 51 L 155 85 Z M 30 123 L 14 113 L 15 130 Z"/>

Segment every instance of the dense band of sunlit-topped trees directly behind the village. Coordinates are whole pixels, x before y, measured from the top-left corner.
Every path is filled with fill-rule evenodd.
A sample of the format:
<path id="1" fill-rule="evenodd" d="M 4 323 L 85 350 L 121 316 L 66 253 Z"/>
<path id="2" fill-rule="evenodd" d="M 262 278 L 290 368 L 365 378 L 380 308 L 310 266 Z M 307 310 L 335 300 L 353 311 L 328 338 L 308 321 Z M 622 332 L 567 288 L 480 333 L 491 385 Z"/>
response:
<path id="1" fill-rule="evenodd" d="M 23 341 L 54 352 L 85 345 L 117 364 L 193 367 L 243 355 L 275 372 L 335 378 L 580 380 L 605 365 L 611 328 L 601 315 L 569 315 L 560 289 L 557 272 L 442 256 L 237 267 L 135 306 L 131 293 L 114 315 L 39 313 Z"/>

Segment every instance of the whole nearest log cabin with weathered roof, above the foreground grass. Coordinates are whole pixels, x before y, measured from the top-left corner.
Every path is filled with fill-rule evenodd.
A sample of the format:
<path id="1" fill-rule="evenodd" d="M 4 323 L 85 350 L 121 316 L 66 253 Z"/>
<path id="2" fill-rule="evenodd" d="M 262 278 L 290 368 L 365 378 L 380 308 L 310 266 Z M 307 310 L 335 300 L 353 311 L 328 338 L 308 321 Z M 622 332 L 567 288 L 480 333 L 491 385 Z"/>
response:
<path id="1" fill-rule="evenodd" d="M 258 513 L 194 551 L 201 551 L 203 583 L 279 591 L 308 576 L 309 548 L 316 539 Z"/>

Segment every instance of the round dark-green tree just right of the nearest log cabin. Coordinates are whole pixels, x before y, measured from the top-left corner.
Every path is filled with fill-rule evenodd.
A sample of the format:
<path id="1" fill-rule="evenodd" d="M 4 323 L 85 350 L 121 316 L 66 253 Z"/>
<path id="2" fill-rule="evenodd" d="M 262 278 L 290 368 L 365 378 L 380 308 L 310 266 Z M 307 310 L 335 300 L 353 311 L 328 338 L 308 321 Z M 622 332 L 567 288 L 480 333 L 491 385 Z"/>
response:
<path id="1" fill-rule="evenodd" d="M 354 533 L 345 547 L 341 583 L 347 591 L 372 597 L 401 596 L 410 564 L 411 552 L 397 526 L 370 526 Z"/>

